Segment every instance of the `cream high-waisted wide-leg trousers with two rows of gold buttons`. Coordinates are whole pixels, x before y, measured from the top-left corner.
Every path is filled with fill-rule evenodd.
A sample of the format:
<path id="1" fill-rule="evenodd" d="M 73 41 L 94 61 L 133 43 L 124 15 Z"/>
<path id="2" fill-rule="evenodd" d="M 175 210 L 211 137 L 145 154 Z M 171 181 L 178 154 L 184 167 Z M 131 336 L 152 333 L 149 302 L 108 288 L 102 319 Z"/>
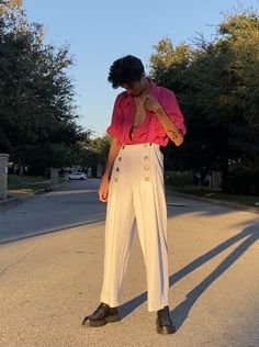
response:
<path id="1" fill-rule="evenodd" d="M 101 302 L 119 306 L 135 227 L 147 277 L 147 310 L 168 305 L 169 273 L 164 160 L 157 144 L 123 145 L 109 188 Z"/>

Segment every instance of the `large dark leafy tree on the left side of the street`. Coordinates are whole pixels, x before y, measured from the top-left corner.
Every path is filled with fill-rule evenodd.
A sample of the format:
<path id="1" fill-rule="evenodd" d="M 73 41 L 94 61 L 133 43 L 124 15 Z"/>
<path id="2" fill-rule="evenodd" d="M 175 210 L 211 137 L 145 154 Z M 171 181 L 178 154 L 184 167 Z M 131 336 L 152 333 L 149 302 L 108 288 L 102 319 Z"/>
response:
<path id="1" fill-rule="evenodd" d="M 30 24 L 21 8 L 9 7 L 1 16 L 0 152 L 35 172 L 60 158 L 66 165 L 66 153 L 90 135 L 77 124 L 68 47 L 44 45 L 43 36 L 43 25 Z"/>

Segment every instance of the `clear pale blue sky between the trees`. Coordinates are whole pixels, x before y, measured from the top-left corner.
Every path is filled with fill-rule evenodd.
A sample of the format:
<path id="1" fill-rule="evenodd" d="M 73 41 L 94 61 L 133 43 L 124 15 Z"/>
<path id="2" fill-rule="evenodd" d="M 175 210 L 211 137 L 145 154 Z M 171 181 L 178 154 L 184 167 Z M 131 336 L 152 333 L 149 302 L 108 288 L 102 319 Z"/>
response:
<path id="1" fill-rule="evenodd" d="M 122 91 L 106 80 L 115 59 L 135 55 L 148 74 L 159 40 L 191 44 L 198 33 L 212 40 L 223 13 L 251 7 L 258 11 L 259 0 L 23 0 L 23 7 L 30 22 L 44 25 L 44 43 L 69 44 L 75 66 L 68 74 L 75 85 L 78 123 L 102 136 Z"/>

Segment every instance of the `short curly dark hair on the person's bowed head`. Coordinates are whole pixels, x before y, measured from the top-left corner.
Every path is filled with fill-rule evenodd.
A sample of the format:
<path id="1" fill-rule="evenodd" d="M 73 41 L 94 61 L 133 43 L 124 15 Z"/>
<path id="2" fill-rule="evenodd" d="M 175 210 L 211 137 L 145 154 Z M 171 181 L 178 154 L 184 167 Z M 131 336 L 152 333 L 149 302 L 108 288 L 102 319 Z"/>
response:
<path id="1" fill-rule="evenodd" d="M 119 88 L 123 83 L 139 81 L 143 74 L 144 65 L 142 60 L 133 55 L 127 55 L 112 64 L 108 80 L 113 88 Z"/>

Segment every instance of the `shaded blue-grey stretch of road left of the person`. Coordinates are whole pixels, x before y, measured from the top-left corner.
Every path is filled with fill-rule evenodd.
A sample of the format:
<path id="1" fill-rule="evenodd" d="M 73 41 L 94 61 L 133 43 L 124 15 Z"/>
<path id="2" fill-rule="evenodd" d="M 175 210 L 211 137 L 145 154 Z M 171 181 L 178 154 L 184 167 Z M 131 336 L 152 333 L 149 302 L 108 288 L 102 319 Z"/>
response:
<path id="1" fill-rule="evenodd" d="M 53 192 L 0 205 L 0 244 L 69 226 L 104 221 L 97 199 L 98 179 L 69 181 Z"/>

